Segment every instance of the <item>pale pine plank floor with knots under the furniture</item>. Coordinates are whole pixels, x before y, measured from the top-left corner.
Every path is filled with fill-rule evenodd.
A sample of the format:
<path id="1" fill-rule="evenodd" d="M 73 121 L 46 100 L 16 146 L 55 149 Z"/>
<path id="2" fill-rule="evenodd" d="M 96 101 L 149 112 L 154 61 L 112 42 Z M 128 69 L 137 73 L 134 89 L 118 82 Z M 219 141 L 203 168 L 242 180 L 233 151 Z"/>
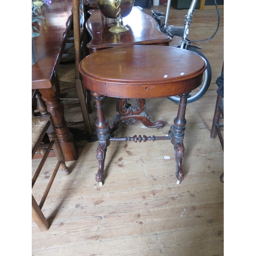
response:
<path id="1" fill-rule="evenodd" d="M 165 8 L 151 9 L 164 12 Z M 210 138 L 218 88 L 215 81 L 224 55 L 224 9 L 219 11 L 219 31 L 201 50 L 212 69 L 210 88 L 200 100 L 187 105 L 182 183 L 176 184 L 174 150 L 169 141 L 112 142 L 100 187 L 95 182 L 97 142 L 88 143 L 82 126 L 73 127 L 79 158 L 67 162 L 72 171 L 69 176 L 56 175 L 43 208 L 50 229 L 41 232 L 32 220 L 33 256 L 224 255 L 224 186 L 219 180 L 224 156 L 219 140 Z M 148 9 L 144 12 L 151 14 Z M 182 26 L 186 12 L 171 7 L 168 24 Z M 216 26 L 215 9 L 196 9 L 190 38 L 208 38 Z M 178 42 L 174 39 L 170 46 Z M 116 136 L 167 134 L 178 105 L 166 98 L 146 102 L 151 120 L 164 120 L 165 126 L 157 130 L 145 129 L 140 123 L 124 125 Z M 104 108 L 110 122 L 116 114 L 115 99 L 106 98 Z M 65 111 L 67 120 L 81 120 L 79 108 Z M 90 119 L 94 127 L 94 109 Z M 35 199 L 42 195 L 55 161 L 47 160 L 33 188 Z M 32 174 L 38 163 L 38 159 L 32 160 Z"/>

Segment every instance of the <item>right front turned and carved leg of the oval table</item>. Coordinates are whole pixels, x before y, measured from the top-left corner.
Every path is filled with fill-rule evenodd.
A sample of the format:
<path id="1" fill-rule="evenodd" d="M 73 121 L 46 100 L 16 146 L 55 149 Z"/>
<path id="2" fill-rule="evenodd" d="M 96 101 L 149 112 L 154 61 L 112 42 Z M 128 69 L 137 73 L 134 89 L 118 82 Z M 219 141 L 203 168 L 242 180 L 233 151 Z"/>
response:
<path id="1" fill-rule="evenodd" d="M 187 105 L 187 98 L 190 97 L 190 94 L 182 94 L 180 96 L 180 103 L 177 117 L 174 119 L 174 125 L 172 125 L 169 133 L 172 133 L 171 142 L 174 145 L 175 151 L 175 163 L 176 163 L 176 177 L 177 184 L 184 179 L 184 173 L 182 171 L 182 158 L 185 155 L 185 148 L 183 144 L 184 131 L 185 131 L 185 111 Z"/>

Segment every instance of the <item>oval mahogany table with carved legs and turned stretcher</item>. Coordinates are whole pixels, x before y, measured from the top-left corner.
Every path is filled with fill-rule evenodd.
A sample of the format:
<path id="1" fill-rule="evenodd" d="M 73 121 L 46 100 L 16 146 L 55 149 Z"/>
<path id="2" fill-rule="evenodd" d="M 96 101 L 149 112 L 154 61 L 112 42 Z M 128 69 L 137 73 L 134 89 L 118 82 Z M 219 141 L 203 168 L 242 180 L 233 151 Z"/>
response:
<path id="1" fill-rule="evenodd" d="M 184 156 L 185 110 L 189 93 L 202 82 L 207 65 L 194 52 L 166 46 L 124 46 L 95 52 L 79 64 L 84 85 L 90 90 L 97 110 L 96 130 L 99 162 L 96 181 L 102 185 L 106 147 L 110 141 L 134 141 L 168 139 L 174 145 L 177 184 L 183 178 L 182 158 Z M 177 117 L 164 137 L 113 137 L 122 123 L 142 122 L 147 127 L 161 128 L 163 121 L 152 122 L 143 112 L 145 98 L 161 98 L 179 95 L 181 97 Z M 105 96 L 116 97 L 117 111 L 111 124 L 104 117 L 102 100 Z M 137 99 L 133 107 L 129 100 Z"/>

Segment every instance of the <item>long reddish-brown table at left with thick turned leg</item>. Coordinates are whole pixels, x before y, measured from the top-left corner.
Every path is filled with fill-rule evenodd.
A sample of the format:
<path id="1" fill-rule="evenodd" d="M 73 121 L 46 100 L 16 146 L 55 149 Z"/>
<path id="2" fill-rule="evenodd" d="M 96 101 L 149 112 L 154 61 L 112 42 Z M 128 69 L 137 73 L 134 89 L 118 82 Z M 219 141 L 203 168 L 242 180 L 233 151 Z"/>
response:
<path id="1" fill-rule="evenodd" d="M 40 35 L 34 37 L 37 63 L 32 65 L 32 90 L 39 89 L 46 102 L 65 160 L 76 160 L 77 147 L 64 118 L 56 74 L 72 21 L 72 0 L 53 0 L 50 6 L 38 8 L 38 15 L 45 19 L 37 25 Z"/>

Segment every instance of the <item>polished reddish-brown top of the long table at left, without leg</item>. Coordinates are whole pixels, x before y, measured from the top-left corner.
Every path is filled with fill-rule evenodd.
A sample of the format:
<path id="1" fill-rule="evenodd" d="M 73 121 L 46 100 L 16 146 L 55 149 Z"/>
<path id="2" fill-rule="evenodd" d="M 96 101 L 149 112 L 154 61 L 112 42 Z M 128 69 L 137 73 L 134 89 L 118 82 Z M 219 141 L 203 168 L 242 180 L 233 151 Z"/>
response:
<path id="1" fill-rule="evenodd" d="M 32 89 L 52 87 L 52 75 L 57 69 L 72 21 L 72 0 L 53 0 L 50 6 L 39 7 L 42 24 L 34 37 L 37 63 L 32 65 Z"/>

